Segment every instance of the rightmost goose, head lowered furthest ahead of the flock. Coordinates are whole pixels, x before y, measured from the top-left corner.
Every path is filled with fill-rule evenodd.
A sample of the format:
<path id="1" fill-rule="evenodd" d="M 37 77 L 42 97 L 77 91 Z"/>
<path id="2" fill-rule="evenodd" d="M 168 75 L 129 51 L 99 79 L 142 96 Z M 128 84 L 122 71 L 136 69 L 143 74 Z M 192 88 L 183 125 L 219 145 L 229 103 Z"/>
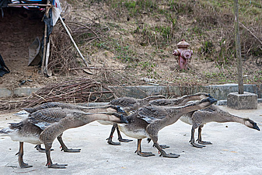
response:
<path id="1" fill-rule="evenodd" d="M 210 107 L 197 110 L 197 111 L 192 111 L 189 113 L 186 113 L 180 117 L 180 120 L 191 124 L 192 129 L 191 129 L 191 139 L 190 143 L 194 147 L 198 148 L 203 148 L 205 145 L 199 145 L 195 143 L 195 129 L 198 127 L 198 142 L 200 144 L 212 144 L 210 141 L 203 141 L 201 132 L 202 132 L 202 127 L 204 124 L 208 122 L 239 122 L 242 123 L 250 128 L 260 130 L 259 126 L 255 121 L 249 118 L 242 118 L 233 114 L 230 114 L 227 111 L 222 110 L 218 106 L 212 104 Z"/>

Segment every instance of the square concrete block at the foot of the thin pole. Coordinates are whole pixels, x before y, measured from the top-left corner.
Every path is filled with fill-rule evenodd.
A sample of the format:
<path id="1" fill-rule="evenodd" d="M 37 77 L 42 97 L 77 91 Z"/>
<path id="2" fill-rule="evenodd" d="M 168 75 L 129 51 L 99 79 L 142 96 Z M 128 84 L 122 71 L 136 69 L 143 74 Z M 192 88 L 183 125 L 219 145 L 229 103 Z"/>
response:
<path id="1" fill-rule="evenodd" d="M 234 109 L 256 109 L 258 108 L 258 95 L 255 93 L 231 92 L 228 94 L 228 107 Z"/>

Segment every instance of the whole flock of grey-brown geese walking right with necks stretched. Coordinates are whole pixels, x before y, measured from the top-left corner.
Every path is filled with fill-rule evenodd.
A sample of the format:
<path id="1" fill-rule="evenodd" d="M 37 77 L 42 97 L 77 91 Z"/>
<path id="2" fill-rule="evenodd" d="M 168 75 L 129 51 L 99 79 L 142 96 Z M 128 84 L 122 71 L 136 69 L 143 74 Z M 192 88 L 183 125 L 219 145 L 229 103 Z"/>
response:
<path id="1" fill-rule="evenodd" d="M 21 168 L 31 167 L 23 161 L 23 143 L 36 144 L 36 149 L 46 153 L 46 166 L 49 168 L 66 168 L 67 164 L 52 163 L 50 151 L 52 142 L 58 139 L 65 152 L 80 152 L 80 148 L 68 148 L 62 140 L 62 134 L 69 128 L 79 127 L 97 120 L 101 124 L 111 124 L 112 129 L 107 142 L 120 145 L 120 142 L 133 141 L 124 139 L 125 135 L 137 139 L 136 153 L 140 156 L 153 156 L 152 152 L 143 152 L 141 141 L 147 138 L 153 141 L 161 156 L 177 158 L 180 155 L 166 153 L 158 142 L 158 132 L 165 126 L 175 123 L 178 119 L 192 125 L 190 143 L 194 147 L 203 148 L 209 141 L 201 137 L 202 127 L 208 122 L 239 122 L 250 128 L 260 130 L 257 123 L 249 118 L 232 115 L 213 103 L 217 102 L 210 94 L 199 92 L 179 98 L 167 99 L 163 95 L 149 96 L 144 99 L 120 97 L 113 99 L 105 106 L 86 107 L 62 102 L 47 102 L 32 108 L 23 108 L 15 113 L 22 118 L 18 123 L 0 130 L 0 136 L 10 136 L 13 141 L 19 141 L 18 163 Z M 198 143 L 195 143 L 195 129 L 198 128 Z M 117 130 L 118 141 L 112 141 Z M 41 148 L 41 144 L 45 148 Z"/>

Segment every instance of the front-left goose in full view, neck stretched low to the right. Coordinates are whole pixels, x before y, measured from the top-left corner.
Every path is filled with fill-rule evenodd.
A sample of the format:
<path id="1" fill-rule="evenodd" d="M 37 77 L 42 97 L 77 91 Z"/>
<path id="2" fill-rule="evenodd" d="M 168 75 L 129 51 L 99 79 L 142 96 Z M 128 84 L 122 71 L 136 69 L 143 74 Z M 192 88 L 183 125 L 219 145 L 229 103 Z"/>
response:
<path id="1" fill-rule="evenodd" d="M 59 113 L 60 118 L 51 123 L 49 121 L 53 121 L 53 117 L 44 113 Z M 23 162 L 23 142 L 45 144 L 48 168 L 66 168 L 67 164 L 52 163 L 50 148 L 53 140 L 69 128 L 79 127 L 97 119 L 116 123 L 128 122 L 124 115 L 115 112 L 87 113 L 79 109 L 48 108 L 33 112 L 30 117 L 19 123 L 10 123 L 9 127 L 0 130 L 0 135 L 10 136 L 13 141 L 19 141 L 18 162 L 21 168 L 32 166 Z"/>

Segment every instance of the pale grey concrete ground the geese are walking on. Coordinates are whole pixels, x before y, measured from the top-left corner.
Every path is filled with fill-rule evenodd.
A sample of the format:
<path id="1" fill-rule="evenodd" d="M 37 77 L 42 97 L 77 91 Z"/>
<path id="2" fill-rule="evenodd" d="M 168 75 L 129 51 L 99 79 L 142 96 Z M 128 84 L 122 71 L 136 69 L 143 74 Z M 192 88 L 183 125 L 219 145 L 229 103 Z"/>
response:
<path id="1" fill-rule="evenodd" d="M 262 103 L 258 109 L 223 109 L 242 117 L 255 120 L 262 129 Z M 0 115 L 0 128 L 7 122 L 20 119 L 11 114 Z M 167 153 L 181 154 L 179 158 L 158 156 L 152 142 L 142 141 L 143 151 L 152 151 L 156 156 L 141 157 L 136 150 L 137 140 L 121 146 L 107 144 L 105 138 L 110 125 L 92 122 L 64 132 L 63 139 L 69 148 L 81 148 L 80 153 L 60 151 L 59 142 L 53 143 L 53 163 L 68 164 L 66 169 L 51 169 L 45 166 L 45 153 L 34 149 L 35 145 L 24 144 L 24 161 L 33 165 L 21 169 L 17 162 L 19 143 L 10 137 L 0 137 L 1 174 L 262 174 L 262 131 L 251 129 L 240 123 L 208 123 L 203 127 L 203 140 L 212 145 L 200 149 L 191 146 L 191 126 L 177 121 L 159 132 L 159 143 L 168 144 Z M 195 135 L 197 137 L 197 133 Z M 123 134 L 124 138 L 127 138 Z M 113 138 L 117 140 L 115 137 Z M 13 167 L 14 166 L 14 167 Z M 17 167 L 16 167 L 17 166 Z"/>

